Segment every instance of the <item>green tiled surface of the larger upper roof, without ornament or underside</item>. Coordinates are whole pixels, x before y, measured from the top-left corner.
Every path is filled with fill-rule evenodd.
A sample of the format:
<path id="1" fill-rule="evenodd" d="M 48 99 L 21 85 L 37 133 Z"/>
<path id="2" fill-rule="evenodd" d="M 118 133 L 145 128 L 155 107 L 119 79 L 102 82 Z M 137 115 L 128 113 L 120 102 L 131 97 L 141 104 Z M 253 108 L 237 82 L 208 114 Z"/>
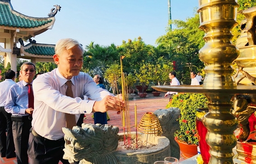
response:
<path id="1" fill-rule="evenodd" d="M 10 2 L 0 1 L 0 26 L 16 28 L 34 28 L 53 21 L 53 17 L 34 18 L 15 11 Z"/>

